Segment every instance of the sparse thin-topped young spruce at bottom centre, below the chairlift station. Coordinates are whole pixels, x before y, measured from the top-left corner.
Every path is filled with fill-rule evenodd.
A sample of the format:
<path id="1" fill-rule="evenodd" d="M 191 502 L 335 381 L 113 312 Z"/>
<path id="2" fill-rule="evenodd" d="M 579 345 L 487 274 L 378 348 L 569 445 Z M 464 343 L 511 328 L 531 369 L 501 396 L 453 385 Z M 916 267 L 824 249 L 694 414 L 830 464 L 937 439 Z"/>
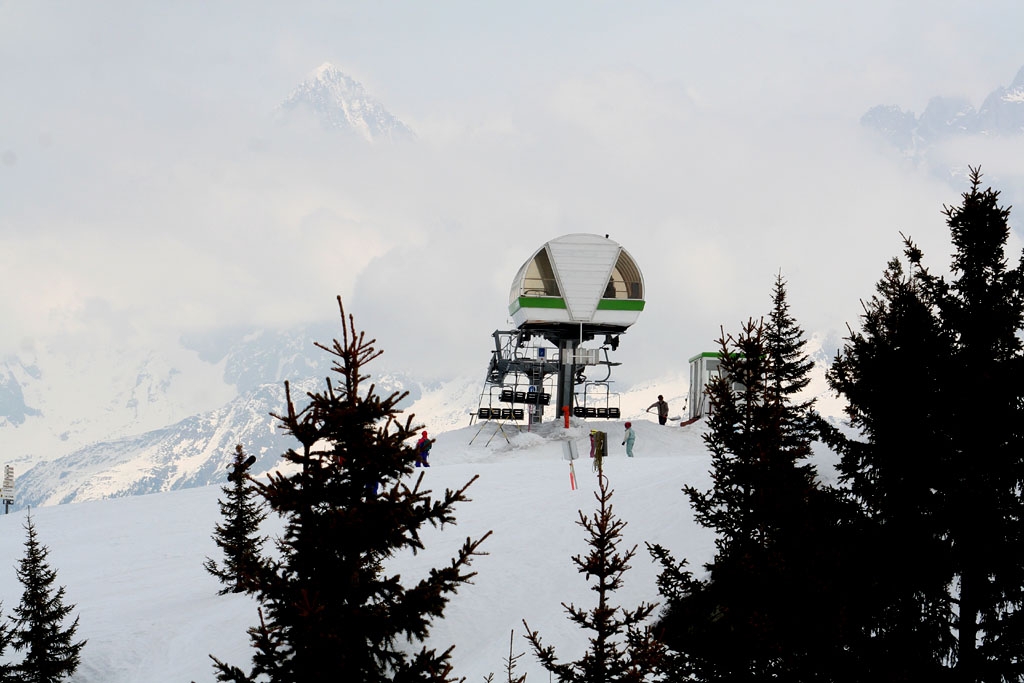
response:
<path id="1" fill-rule="evenodd" d="M 545 646 L 538 632 L 530 631 L 523 621 L 526 639 L 541 665 L 560 683 L 653 680 L 662 664 L 664 647 L 644 622 L 656 605 L 643 602 L 635 609 L 626 609 L 611 604 L 611 594 L 622 588 L 623 575 L 630 568 L 637 547 L 618 552 L 626 522 L 612 512 L 612 492 L 602 468 L 598 468 L 597 480 L 598 490 L 594 494 L 597 511 L 593 517 L 587 517 L 581 510 L 577 521 L 587 531 L 590 552 L 572 558 L 580 573 L 594 579 L 591 588 L 597 593 L 597 606 L 588 610 L 562 603 L 571 622 L 594 633 L 590 648 L 581 659 L 561 663 L 554 647 Z"/>

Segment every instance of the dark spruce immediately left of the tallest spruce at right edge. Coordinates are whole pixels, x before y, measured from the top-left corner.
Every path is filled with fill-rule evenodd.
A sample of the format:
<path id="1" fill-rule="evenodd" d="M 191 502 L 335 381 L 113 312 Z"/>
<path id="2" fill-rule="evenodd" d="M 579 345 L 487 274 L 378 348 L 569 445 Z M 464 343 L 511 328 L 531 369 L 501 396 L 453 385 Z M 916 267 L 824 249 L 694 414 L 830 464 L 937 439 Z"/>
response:
<path id="1" fill-rule="evenodd" d="M 833 432 L 858 532 L 852 557 L 864 586 L 851 647 L 877 681 L 946 678 L 951 631 L 949 547 L 940 516 L 953 397 L 943 375 L 949 339 L 920 284 L 891 260 L 829 368 L 858 438 Z"/>

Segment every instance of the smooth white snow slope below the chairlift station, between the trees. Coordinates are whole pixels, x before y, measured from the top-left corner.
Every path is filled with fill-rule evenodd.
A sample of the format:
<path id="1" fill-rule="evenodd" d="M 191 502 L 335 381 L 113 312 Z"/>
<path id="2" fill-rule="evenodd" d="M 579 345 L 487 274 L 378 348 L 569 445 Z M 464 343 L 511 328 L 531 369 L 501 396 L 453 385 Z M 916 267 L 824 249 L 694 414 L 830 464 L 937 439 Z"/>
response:
<path id="1" fill-rule="evenodd" d="M 665 545 L 697 572 L 712 558 L 714 537 L 695 524 L 680 490 L 686 484 L 711 485 L 705 423 L 663 427 L 644 418 L 633 424 L 633 459 L 620 444 L 622 421 L 573 419 L 568 429 L 552 421 L 521 432 L 506 426 L 508 440 L 495 423 L 437 434 L 431 467 L 416 474 L 435 495 L 479 475 L 468 492 L 472 500 L 457 507 L 456 525 L 427 529 L 426 550 L 394 558 L 389 569 L 412 585 L 429 567 L 445 564 L 467 537 L 494 532 L 481 548 L 487 554 L 473 562 L 478 572 L 473 584 L 453 597 L 428 641 L 438 650 L 456 646 L 457 675 L 480 681 L 494 672 L 501 680 L 514 632 L 514 653 L 527 652 L 517 673 L 547 680 L 527 651 L 523 620 L 556 646 L 563 660 L 586 649 L 590 634 L 569 624 L 561 603 L 590 607 L 595 599 L 571 561 L 587 550 L 579 511 L 591 515 L 596 509 L 591 429 L 609 434 L 605 473 L 614 492 L 614 514 L 627 521 L 620 548 L 639 545 L 615 603 L 633 608 L 658 599 L 658 568 L 645 543 Z M 567 440 L 575 441 L 581 456 L 573 463 L 575 490 L 563 457 Z M 827 457 L 819 462 L 826 480 L 828 462 Z M 247 596 L 218 596 L 219 584 L 202 566 L 206 557 L 221 558 L 211 537 L 220 520 L 221 496 L 218 485 L 32 512 L 57 583 L 67 588 L 66 601 L 76 605 L 79 636 L 88 640 L 74 681 L 213 681 L 209 654 L 251 668 L 246 629 L 256 624 L 256 605 Z M 0 554 L 7 558 L 6 570 L 0 570 L 5 615 L 20 598 L 14 565 L 24 553 L 25 515 L 0 516 Z M 274 533 L 279 525 L 274 521 L 267 531 Z"/>

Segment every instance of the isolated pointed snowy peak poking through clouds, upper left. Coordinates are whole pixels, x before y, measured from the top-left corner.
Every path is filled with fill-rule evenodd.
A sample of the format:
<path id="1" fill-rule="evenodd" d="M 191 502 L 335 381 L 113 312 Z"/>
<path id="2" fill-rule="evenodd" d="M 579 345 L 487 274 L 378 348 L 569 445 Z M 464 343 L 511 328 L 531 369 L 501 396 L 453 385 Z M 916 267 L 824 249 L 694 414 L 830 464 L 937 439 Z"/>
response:
<path id="1" fill-rule="evenodd" d="M 281 112 L 311 113 L 325 128 L 350 131 L 368 142 L 412 140 L 413 130 L 371 96 L 362 85 L 330 62 L 282 102 Z"/>

